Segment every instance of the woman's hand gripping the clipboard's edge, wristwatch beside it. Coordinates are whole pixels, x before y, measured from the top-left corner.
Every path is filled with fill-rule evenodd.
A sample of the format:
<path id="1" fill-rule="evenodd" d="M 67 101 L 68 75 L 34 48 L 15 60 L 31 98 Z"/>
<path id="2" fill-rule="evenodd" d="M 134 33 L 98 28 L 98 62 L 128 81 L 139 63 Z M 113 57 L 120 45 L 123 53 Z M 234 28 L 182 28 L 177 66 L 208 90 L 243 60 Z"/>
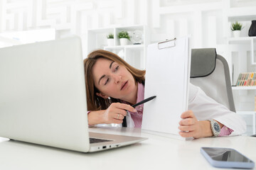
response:
<path id="1" fill-rule="evenodd" d="M 198 121 L 193 111 L 186 111 L 181 114 L 182 120 L 179 122 L 178 129 L 181 130 L 181 137 L 210 137 L 213 132 L 210 129 L 208 120 Z"/>

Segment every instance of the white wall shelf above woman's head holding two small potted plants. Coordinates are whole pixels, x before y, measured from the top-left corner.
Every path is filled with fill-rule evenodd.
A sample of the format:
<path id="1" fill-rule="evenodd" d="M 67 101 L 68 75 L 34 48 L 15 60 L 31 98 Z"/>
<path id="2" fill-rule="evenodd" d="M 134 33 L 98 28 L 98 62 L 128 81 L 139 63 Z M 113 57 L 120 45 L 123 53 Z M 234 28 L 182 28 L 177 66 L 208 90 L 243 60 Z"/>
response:
<path id="1" fill-rule="evenodd" d="M 134 30 L 140 30 L 142 32 L 142 44 L 134 45 L 132 41 L 129 41 L 128 45 L 120 45 L 117 35 L 119 32 L 126 30 L 131 36 Z M 107 46 L 107 35 L 112 33 L 114 35 L 114 46 Z M 88 42 L 87 50 L 91 52 L 93 50 L 102 49 L 114 52 L 122 57 L 126 62 L 131 64 L 137 69 L 145 69 L 146 67 L 146 45 L 148 44 L 146 35 L 146 26 L 119 26 L 113 28 L 98 28 L 87 30 Z"/>

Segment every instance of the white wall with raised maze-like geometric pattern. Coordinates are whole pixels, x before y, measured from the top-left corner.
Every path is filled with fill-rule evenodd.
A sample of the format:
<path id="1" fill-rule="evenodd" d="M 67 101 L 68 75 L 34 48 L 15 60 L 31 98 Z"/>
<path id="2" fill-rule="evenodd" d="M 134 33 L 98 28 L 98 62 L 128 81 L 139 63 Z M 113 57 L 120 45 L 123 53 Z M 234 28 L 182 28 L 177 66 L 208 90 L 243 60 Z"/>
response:
<path id="1" fill-rule="evenodd" d="M 238 6 L 256 11 L 255 0 L 0 0 L 0 33 L 55 28 L 85 39 L 89 28 L 145 24 L 151 42 L 191 34 L 192 47 L 216 47 L 230 37 L 226 12 Z"/>

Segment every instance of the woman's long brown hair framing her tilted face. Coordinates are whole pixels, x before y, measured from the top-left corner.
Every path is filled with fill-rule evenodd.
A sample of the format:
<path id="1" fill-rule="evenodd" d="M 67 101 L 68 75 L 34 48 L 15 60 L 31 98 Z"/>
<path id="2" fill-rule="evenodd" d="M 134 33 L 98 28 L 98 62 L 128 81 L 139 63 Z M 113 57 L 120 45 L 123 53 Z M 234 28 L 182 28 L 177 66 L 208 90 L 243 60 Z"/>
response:
<path id="1" fill-rule="evenodd" d="M 140 70 L 132 67 L 127 62 L 122 60 L 118 55 L 106 51 L 106 50 L 95 50 L 91 52 L 87 58 L 84 60 L 85 66 L 85 86 L 86 86 L 86 96 L 87 96 L 87 110 L 88 111 L 100 111 L 102 109 L 107 109 L 111 103 L 119 102 L 118 98 L 102 98 L 97 96 L 96 93 L 100 91 L 95 87 L 93 77 L 92 77 L 92 67 L 95 65 L 99 58 L 105 58 L 117 62 L 123 65 L 132 74 L 135 81 L 144 84 L 145 82 L 145 70 Z"/>

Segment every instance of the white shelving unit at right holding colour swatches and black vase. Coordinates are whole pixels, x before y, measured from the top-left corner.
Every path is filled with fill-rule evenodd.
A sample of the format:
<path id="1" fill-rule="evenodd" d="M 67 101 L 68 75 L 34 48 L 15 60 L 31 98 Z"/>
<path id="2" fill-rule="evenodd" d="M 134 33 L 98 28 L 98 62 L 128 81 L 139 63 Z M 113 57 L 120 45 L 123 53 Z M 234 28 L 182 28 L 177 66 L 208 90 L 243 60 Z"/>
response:
<path id="1" fill-rule="evenodd" d="M 226 11 L 228 23 L 225 28 L 230 27 L 235 21 L 245 23 L 248 26 L 249 22 L 256 19 L 255 6 L 233 7 L 232 0 L 228 2 L 228 10 Z M 248 31 L 249 28 L 244 28 Z M 230 30 L 231 31 L 231 30 Z M 243 30 L 245 33 L 245 30 Z M 244 36 L 240 38 L 228 38 L 228 47 L 230 48 L 230 59 L 233 67 L 231 72 L 232 82 L 236 84 L 238 75 L 242 72 L 256 72 L 256 37 Z M 238 49 L 238 50 L 237 50 Z M 252 128 L 252 134 L 256 133 L 255 125 L 255 95 L 256 86 L 232 86 L 233 97 L 235 101 L 236 111 L 239 115 L 245 118 L 247 125 Z M 248 118 L 247 116 L 250 116 Z M 250 133 L 249 132 L 249 133 Z M 248 131 L 247 131 L 248 133 Z M 251 134 L 250 134 L 251 135 Z"/>

